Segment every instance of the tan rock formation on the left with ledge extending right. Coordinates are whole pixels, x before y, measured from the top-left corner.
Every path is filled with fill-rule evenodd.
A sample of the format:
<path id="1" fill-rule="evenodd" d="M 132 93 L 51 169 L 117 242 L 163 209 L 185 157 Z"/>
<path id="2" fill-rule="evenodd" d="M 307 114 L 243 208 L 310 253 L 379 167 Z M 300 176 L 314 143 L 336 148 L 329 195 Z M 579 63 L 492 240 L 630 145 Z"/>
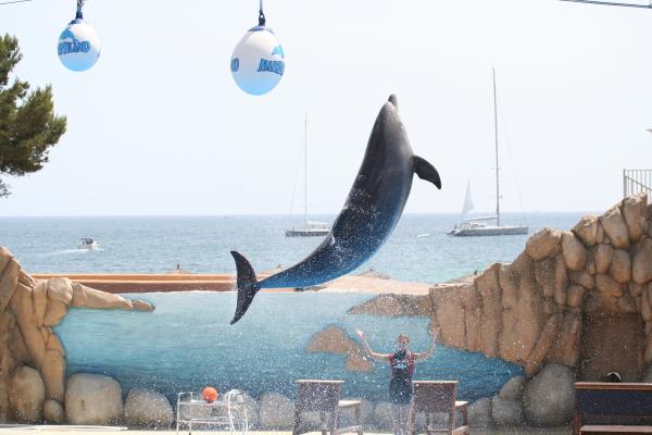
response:
<path id="1" fill-rule="evenodd" d="M 0 423 L 58 423 L 67 412 L 65 349 L 52 327 L 71 307 L 153 310 L 67 278 L 35 281 L 0 247 Z"/>

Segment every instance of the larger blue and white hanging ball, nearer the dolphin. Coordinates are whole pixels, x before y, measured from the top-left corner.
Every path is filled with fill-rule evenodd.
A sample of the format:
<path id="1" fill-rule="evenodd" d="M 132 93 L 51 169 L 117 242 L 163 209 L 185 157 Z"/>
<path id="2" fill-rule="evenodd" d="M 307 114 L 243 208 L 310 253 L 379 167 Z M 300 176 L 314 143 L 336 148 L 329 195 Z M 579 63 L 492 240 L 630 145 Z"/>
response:
<path id="1" fill-rule="evenodd" d="M 236 46 L 230 67 L 247 94 L 260 96 L 274 89 L 285 73 L 285 53 L 274 32 L 265 26 L 250 28 Z"/>

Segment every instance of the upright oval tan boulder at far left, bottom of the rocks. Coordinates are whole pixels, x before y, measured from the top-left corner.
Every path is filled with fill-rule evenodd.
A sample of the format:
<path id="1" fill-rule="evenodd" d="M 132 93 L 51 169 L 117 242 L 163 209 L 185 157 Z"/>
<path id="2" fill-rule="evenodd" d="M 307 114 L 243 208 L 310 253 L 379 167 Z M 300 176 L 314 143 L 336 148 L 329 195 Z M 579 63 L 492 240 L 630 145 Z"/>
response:
<path id="1" fill-rule="evenodd" d="M 40 423 L 46 387 L 38 371 L 21 365 L 9 380 L 9 412 L 21 423 Z"/>

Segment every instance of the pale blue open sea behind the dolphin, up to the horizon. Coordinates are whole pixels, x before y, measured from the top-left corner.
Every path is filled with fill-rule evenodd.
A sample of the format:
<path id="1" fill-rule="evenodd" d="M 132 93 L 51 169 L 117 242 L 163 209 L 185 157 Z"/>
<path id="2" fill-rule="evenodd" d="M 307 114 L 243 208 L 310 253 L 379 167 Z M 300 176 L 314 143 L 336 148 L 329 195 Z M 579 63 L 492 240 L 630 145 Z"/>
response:
<path id="1" fill-rule="evenodd" d="M 380 250 L 353 273 L 369 269 L 401 281 L 439 283 L 512 261 L 529 236 L 551 226 L 572 228 L 587 212 L 505 213 L 504 223 L 527 223 L 528 235 L 452 237 L 459 213 L 402 216 Z M 333 222 L 335 214 L 312 215 Z M 237 250 L 256 272 L 290 266 L 322 241 L 286 237 L 301 226 L 301 215 L 165 216 L 3 216 L 0 245 L 30 273 L 190 273 L 234 274 Z M 417 237 L 419 236 L 419 237 Z M 100 241 L 100 250 L 76 248 L 82 237 Z"/>

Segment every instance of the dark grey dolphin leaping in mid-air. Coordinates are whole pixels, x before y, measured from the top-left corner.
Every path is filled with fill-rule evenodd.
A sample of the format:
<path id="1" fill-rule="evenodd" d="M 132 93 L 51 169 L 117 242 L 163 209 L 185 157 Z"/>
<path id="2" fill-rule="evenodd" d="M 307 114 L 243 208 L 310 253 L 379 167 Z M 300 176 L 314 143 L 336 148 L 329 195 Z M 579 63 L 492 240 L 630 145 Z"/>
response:
<path id="1" fill-rule="evenodd" d="M 330 233 L 304 260 L 258 281 L 253 268 L 231 251 L 238 271 L 238 300 L 230 324 L 247 312 L 261 288 L 309 287 L 342 276 L 367 261 L 389 238 L 410 196 L 413 174 L 441 189 L 437 170 L 412 152 L 399 117 L 397 97 L 383 105 L 364 160 Z"/>

